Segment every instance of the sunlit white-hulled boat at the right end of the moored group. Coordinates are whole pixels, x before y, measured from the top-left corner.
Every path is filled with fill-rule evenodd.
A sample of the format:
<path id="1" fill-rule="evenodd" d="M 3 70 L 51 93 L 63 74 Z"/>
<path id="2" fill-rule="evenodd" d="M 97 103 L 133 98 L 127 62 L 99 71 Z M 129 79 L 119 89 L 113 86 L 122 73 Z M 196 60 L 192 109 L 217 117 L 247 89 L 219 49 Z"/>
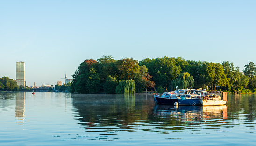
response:
<path id="1" fill-rule="evenodd" d="M 213 91 L 209 92 L 199 101 L 203 106 L 220 106 L 227 103 L 227 92 Z"/>

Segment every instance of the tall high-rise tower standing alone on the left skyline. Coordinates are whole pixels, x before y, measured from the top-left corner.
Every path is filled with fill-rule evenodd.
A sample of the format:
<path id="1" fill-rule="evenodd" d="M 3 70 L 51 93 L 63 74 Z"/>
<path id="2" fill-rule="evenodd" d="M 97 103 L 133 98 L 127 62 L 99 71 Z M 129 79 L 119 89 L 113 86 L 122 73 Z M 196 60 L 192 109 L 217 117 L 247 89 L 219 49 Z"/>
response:
<path id="1" fill-rule="evenodd" d="M 25 62 L 16 62 L 16 82 L 25 88 Z"/>

